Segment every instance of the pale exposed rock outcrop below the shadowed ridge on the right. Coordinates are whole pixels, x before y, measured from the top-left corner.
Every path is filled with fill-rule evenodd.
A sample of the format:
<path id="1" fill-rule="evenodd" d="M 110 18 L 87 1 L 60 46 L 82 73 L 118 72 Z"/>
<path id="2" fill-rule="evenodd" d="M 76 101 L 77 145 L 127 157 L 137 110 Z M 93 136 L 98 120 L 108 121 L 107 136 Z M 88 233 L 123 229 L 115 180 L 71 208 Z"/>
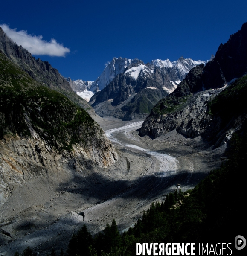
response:
<path id="1" fill-rule="evenodd" d="M 227 143 L 247 119 L 246 97 L 247 76 L 244 76 L 225 90 L 195 93 L 171 113 L 150 115 L 139 134 L 157 138 L 176 129 L 186 137 L 201 136 L 217 148 Z"/>

